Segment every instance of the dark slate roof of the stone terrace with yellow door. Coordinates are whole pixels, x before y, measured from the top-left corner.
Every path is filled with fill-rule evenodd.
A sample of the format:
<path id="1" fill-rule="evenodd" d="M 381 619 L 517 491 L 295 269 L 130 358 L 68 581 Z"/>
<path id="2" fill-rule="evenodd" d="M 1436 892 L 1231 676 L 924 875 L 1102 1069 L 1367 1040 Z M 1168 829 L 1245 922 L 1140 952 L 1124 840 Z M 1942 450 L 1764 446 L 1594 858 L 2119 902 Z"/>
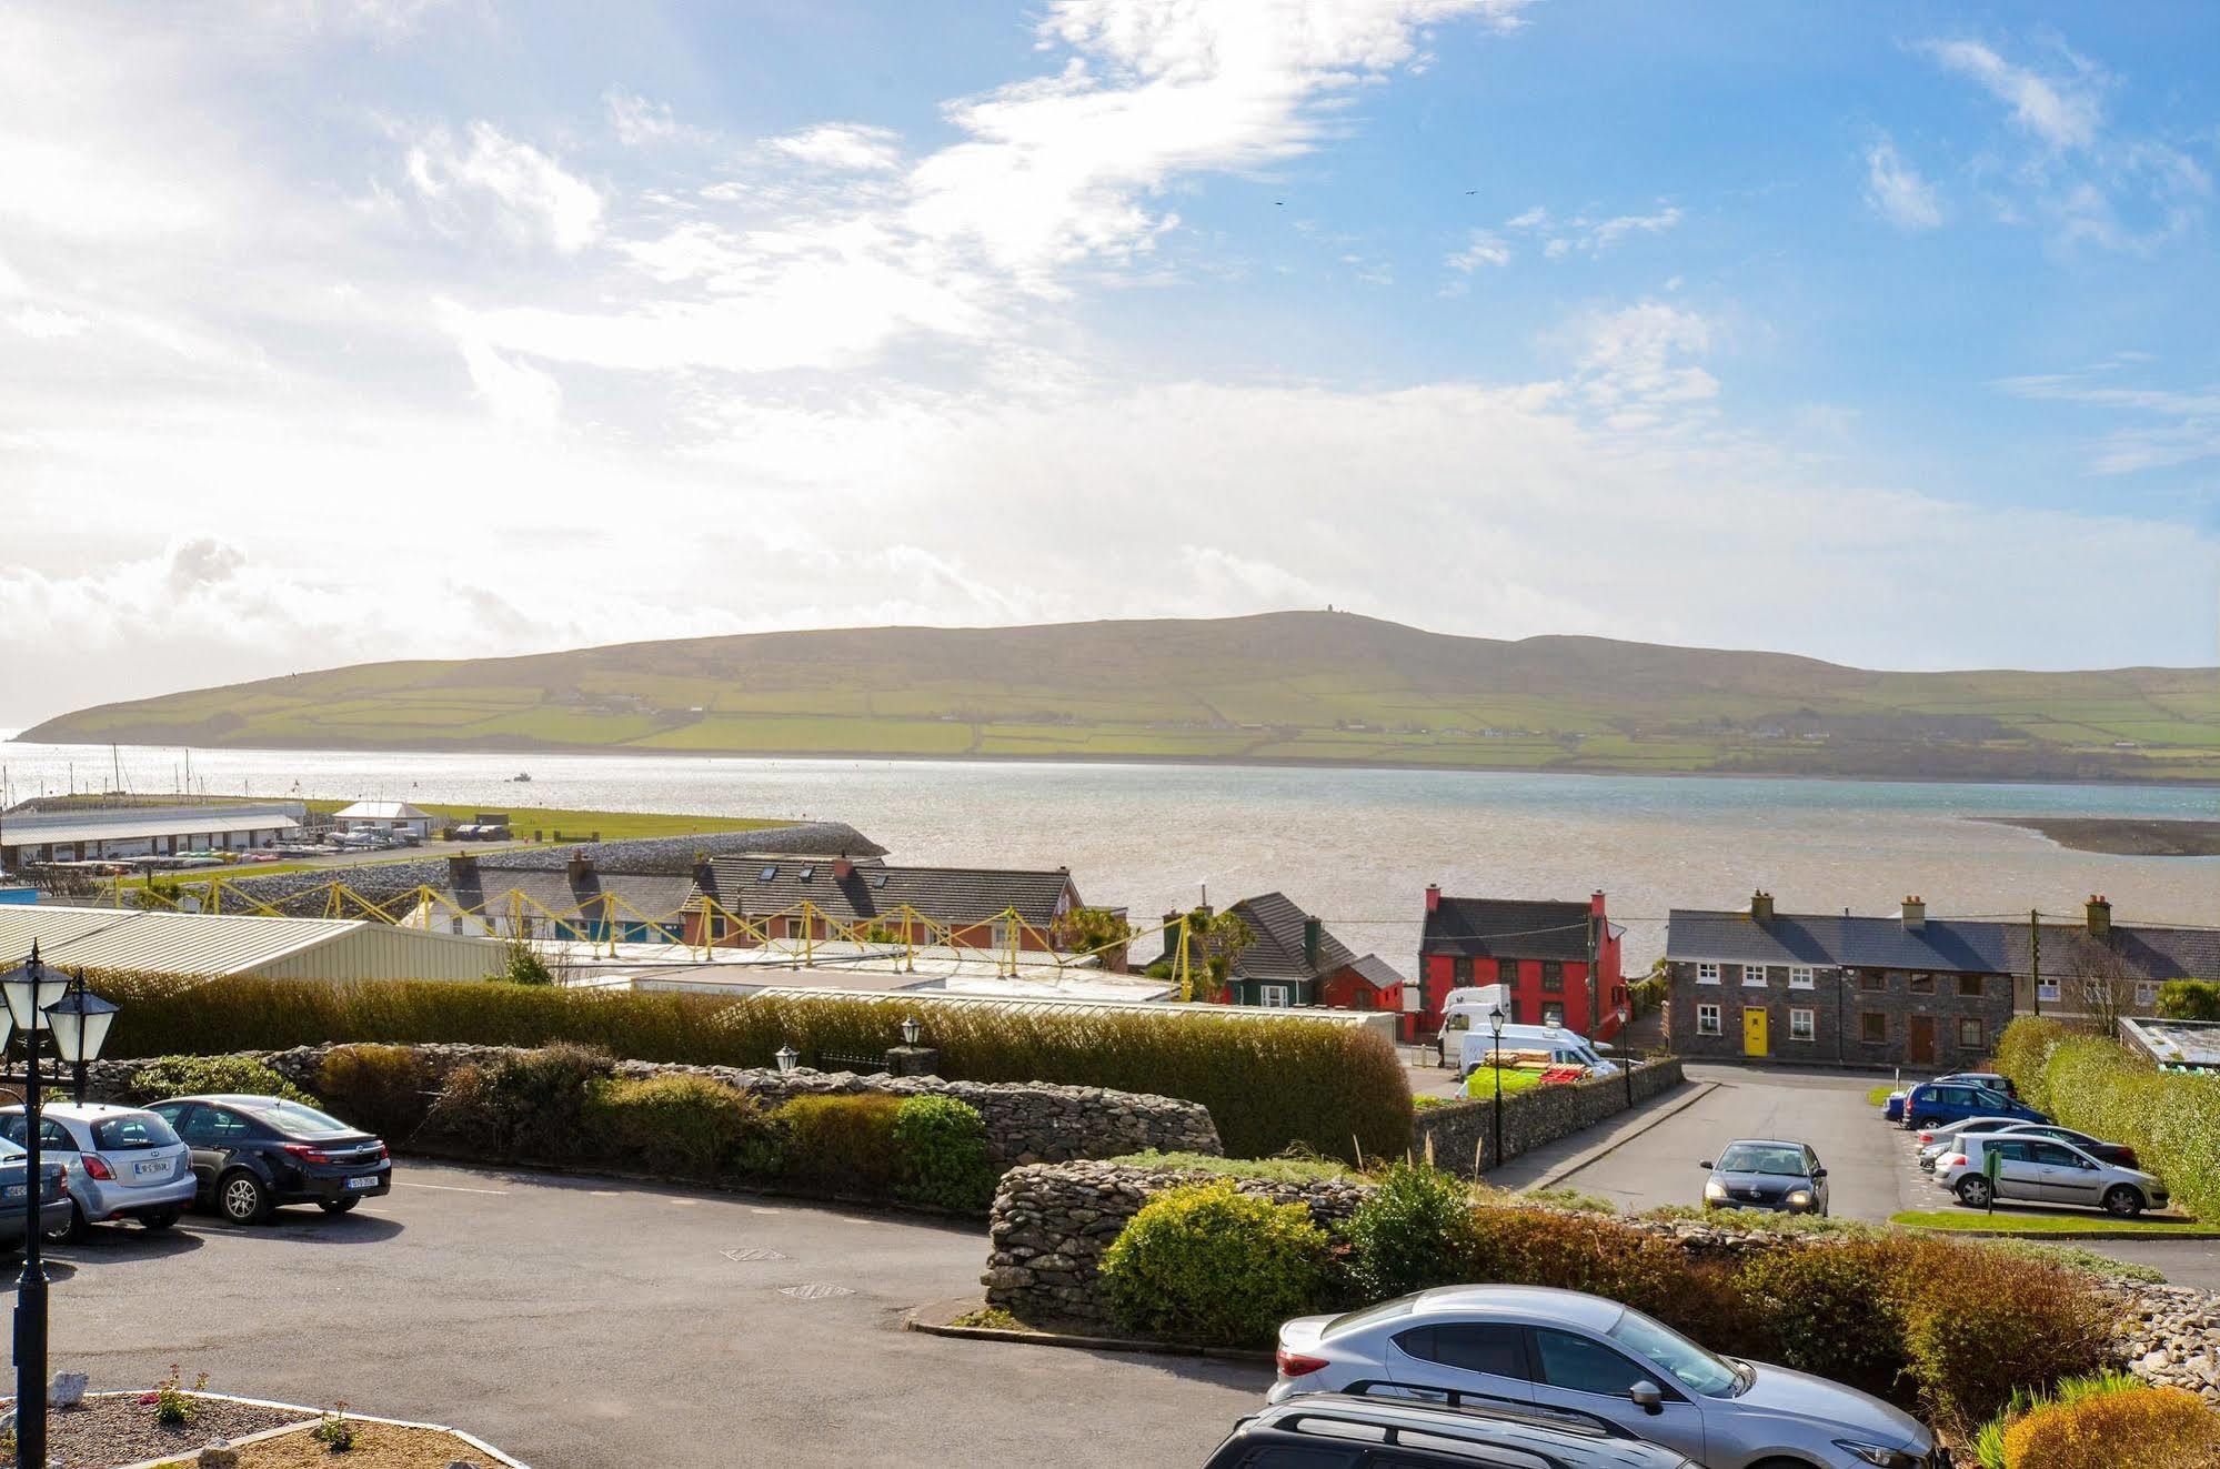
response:
<path id="1" fill-rule="evenodd" d="M 1807 963 L 1854 970 L 1938 970 L 1945 974 L 2011 974 L 2011 925 L 1974 919 L 1927 919 L 1909 930 L 1900 919 L 1849 914 L 1774 914 L 1674 908 L 1665 925 L 1672 961 Z"/>

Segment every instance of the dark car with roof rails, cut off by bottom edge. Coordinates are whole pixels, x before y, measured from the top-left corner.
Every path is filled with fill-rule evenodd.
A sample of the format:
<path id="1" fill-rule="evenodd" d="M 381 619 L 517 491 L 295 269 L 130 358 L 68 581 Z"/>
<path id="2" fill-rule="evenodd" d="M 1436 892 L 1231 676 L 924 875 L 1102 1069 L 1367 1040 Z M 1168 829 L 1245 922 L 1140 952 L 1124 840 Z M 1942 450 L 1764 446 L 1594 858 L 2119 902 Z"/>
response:
<path id="1" fill-rule="evenodd" d="M 1370 1447 L 1368 1447 L 1370 1445 Z M 1388 1453 L 1381 1447 L 1392 1445 Z M 1461 1400 L 1305 1394 L 1234 1425 L 1205 1469 L 1703 1469 L 1616 1425 Z"/>

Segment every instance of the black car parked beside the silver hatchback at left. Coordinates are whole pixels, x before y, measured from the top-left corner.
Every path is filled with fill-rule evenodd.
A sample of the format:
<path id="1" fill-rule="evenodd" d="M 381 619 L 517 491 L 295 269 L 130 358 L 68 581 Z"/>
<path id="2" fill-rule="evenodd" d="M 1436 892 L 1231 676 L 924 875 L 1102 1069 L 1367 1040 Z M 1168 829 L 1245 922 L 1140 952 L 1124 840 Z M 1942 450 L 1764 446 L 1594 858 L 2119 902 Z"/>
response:
<path id="1" fill-rule="evenodd" d="M 235 1225 L 269 1223 L 289 1203 L 346 1214 L 393 1189 L 382 1141 L 282 1096 L 173 1096 L 147 1110 L 191 1145 L 200 1203 Z"/>

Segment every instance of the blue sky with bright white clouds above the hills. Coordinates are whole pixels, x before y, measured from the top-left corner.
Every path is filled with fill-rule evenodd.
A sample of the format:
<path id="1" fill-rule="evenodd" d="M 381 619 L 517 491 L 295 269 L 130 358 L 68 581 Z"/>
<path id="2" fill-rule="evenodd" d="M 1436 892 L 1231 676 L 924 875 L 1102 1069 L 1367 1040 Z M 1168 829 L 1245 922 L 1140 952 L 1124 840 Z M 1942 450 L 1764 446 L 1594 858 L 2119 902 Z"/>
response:
<path id="1" fill-rule="evenodd" d="M 1339 606 L 2213 663 L 2220 7 L 0 0 L 0 726 Z"/>

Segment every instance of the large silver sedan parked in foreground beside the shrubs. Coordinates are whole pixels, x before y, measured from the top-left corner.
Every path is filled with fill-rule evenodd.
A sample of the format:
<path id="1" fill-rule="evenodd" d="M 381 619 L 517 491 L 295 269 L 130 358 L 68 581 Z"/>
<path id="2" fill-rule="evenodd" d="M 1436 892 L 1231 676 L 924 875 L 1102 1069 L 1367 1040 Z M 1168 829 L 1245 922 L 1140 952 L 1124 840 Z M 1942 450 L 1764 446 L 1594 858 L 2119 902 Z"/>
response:
<path id="1" fill-rule="evenodd" d="M 1381 1380 L 1596 1416 L 1709 1469 L 1949 1462 L 1925 1425 L 1880 1398 L 1716 1356 L 1581 1291 L 1450 1285 L 1281 1327 L 1272 1402 Z"/>

